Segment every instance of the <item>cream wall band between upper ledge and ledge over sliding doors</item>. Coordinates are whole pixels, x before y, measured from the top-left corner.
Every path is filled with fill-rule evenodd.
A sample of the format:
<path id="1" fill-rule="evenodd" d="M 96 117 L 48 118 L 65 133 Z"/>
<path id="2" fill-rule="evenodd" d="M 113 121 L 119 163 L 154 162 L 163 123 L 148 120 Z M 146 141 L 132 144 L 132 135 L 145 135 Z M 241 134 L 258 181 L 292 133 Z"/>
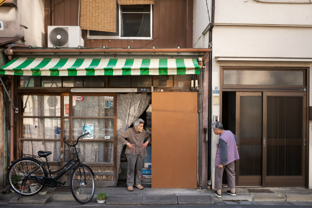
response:
<path id="1" fill-rule="evenodd" d="M 312 27 L 215 26 L 212 53 L 213 57 L 311 58 L 311 34 Z"/>

